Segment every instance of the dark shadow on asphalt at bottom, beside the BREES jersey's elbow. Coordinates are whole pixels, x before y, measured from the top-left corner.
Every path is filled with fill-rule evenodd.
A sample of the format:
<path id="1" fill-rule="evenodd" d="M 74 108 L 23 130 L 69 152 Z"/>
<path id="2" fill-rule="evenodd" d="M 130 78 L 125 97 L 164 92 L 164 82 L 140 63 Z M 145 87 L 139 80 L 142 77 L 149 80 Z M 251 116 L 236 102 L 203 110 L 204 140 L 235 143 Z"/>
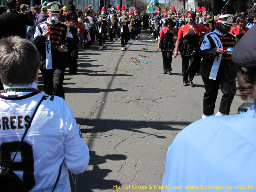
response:
<path id="1" fill-rule="evenodd" d="M 106 180 L 104 177 L 108 175 L 109 172 L 112 172 L 111 169 L 100 169 L 99 165 L 107 163 L 107 160 L 110 161 L 122 161 L 126 159 L 125 155 L 105 155 L 98 156 L 95 151 L 89 151 L 90 153 L 90 165 L 93 165 L 92 170 L 85 170 L 83 173 L 76 176 L 76 191 L 77 192 L 93 192 L 93 189 L 113 189 L 114 185 L 121 185 L 117 180 Z M 74 182 L 69 173 L 70 187 L 72 191 L 75 191 Z M 73 174 L 75 180 L 75 175 Z M 86 187 L 85 187 L 86 186 Z"/>

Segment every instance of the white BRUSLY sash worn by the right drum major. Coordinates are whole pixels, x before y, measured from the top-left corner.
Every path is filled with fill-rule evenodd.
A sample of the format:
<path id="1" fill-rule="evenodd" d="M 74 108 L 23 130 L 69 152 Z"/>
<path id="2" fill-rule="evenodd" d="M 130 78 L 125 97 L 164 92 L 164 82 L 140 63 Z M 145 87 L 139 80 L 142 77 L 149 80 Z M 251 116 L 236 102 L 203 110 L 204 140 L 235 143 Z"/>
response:
<path id="1" fill-rule="evenodd" d="M 219 37 L 215 33 L 211 33 L 209 35 L 212 37 L 214 43 L 216 44 L 216 47 L 220 48 L 220 49 L 223 49 L 222 43 L 221 43 Z M 219 67 L 220 67 L 221 57 L 222 57 L 222 53 L 214 58 L 209 79 L 216 80 L 217 73 L 218 73 L 218 70 L 219 70 Z"/>

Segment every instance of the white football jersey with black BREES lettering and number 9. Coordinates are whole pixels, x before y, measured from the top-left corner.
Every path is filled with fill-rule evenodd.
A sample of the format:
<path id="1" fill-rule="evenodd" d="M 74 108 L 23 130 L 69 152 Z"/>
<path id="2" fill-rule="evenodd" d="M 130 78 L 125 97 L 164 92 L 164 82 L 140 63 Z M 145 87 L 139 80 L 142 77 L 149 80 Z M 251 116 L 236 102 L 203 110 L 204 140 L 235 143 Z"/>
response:
<path id="1" fill-rule="evenodd" d="M 11 163 L 25 127 L 43 95 L 46 94 L 0 95 L 1 167 Z M 88 163 L 89 150 L 83 143 L 72 110 L 62 98 L 49 96 L 39 106 L 12 170 L 25 182 L 29 191 L 52 192 L 62 164 L 54 192 L 69 192 L 68 169 L 75 174 L 82 173 Z"/>

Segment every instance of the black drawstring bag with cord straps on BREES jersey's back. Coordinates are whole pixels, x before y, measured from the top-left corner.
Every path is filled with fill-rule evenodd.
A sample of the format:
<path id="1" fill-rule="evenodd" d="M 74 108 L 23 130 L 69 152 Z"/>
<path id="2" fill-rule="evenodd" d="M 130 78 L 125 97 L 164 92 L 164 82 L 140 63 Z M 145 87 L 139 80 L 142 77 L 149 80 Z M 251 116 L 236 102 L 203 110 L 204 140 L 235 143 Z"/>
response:
<path id="1" fill-rule="evenodd" d="M 33 120 L 33 118 L 34 118 L 34 116 L 36 114 L 37 109 L 39 108 L 39 105 L 42 103 L 43 100 L 46 100 L 47 97 L 48 96 L 43 96 L 42 99 L 37 104 L 36 109 L 35 109 L 32 117 L 31 117 L 31 119 L 30 119 L 30 121 L 28 123 L 28 126 L 26 127 L 26 130 L 25 130 L 25 132 L 23 134 L 23 137 L 22 137 L 22 139 L 20 141 L 19 147 L 18 147 L 18 149 L 17 149 L 17 151 L 16 151 L 16 153 L 15 153 L 13 159 L 12 159 L 11 164 L 9 165 L 8 168 L 0 168 L 2 170 L 0 172 L 0 183 L 1 183 L 0 184 L 0 191 L 1 192 L 16 192 L 16 191 L 28 192 L 28 189 L 25 186 L 24 182 L 12 171 L 11 165 L 12 165 L 12 163 L 13 163 L 16 155 L 17 155 L 17 152 L 20 149 L 20 146 L 21 146 L 21 144 L 22 144 L 22 142 L 23 142 L 23 140 L 24 140 L 24 138 L 25 138 L 25 136 L 26 136 L 26 134 L 28 132 L 28 129 L 31 126 L 31 122 L 32 122 L 32 120 Z M 60 165 L 60 171 L 59 171 L 58 178 L 57 178 L 57 180 L 55 182 L 55 185 L 54 185 L 54 188 L 53 188 L 52 191 L 54 191 L 54 189 L 55 189 L 55 187 L 56 187 L 56 185 L 58 183 L 58 180 L 60 178 L 60 173 L 61 173 L 61 165 Z"/>

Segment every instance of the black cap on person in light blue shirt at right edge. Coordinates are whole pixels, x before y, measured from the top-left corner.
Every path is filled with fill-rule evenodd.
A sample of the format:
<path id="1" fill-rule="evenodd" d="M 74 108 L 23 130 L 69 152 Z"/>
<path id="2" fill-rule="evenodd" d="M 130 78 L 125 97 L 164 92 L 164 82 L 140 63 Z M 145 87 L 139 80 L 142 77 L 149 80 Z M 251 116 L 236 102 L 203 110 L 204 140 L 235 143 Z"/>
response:
<path id="1" fill-rule="evenodd" d="M 256 27 L 252 27 L 236 44 L 232 60 L 240 67 L 256 68 Z"/>

